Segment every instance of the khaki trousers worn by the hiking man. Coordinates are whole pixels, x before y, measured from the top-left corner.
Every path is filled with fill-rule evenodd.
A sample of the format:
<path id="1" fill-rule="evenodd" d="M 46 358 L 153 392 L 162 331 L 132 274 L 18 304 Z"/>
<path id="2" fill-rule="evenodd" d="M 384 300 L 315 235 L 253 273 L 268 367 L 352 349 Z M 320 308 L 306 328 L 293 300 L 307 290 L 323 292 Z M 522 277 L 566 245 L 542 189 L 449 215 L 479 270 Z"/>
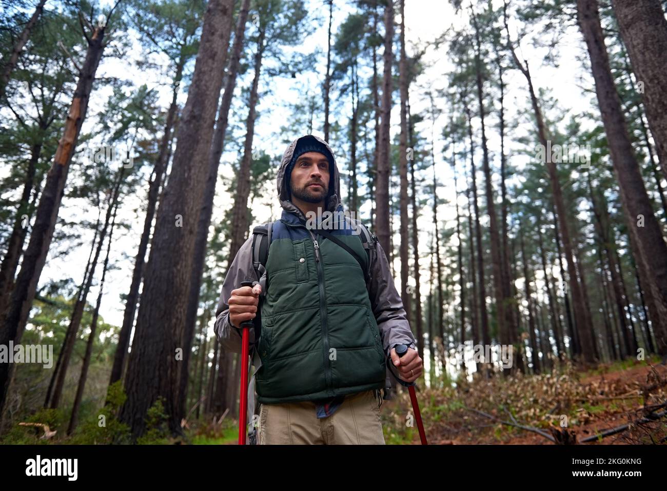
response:
<path id="1" fill-rule="evenodd" d="M 327 418 L 317 418 L 314 402 L 261 404 L 260 445 L 384 445 L 380 395 L 367 390 L 346 396 Z"/>

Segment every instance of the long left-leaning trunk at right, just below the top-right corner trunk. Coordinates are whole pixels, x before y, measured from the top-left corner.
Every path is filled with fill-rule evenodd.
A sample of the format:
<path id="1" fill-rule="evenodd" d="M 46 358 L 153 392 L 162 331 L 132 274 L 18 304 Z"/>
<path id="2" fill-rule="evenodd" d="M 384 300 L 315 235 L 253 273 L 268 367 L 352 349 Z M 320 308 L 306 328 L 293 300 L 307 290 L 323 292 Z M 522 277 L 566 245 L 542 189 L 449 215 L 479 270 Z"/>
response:
<path id="1" fill-rule="evenodd" d="M 646 195 L 644 181 L 634 157 L 632 143 L 630 143 L 620 98 L 609 67 L 598 3 L 596 0 L 577 0 L 577 9 L 579 25 L 590 55 L 598 104 L 609 142 L 614 171 L 618 179 L 626 220 L 628 227 L 638 227 L 636 233 L 641 236 L 638 241 L 639 249 L 644 258 L 650 258 L 650 269 L 647 268 L 648 288 L 651 288 L 656 307 L 662 314 L 661 318 L 664 319 L 667 317 L 667 245 L 662 236 L 660 224 L 653 213 L 652 203 Z M 630 47 L 628 51 L 632 60 L 633 51 L 630 51 Z M 647 76 L 650 77 L 650 74 L 647 73 Z M 660 79 L 655 79 L 655 83 L 659 87 Z M 647 85 L 651 84 L 647 83 Z M 649 104 L 651 104 L 651 109 L 649 109 Z M 652 102 L 647 104 L 646 109 L 647 112 L 650 110 L 652 113 L 654 110 Z M 649 124 L 651 120 L 652 117 L 649 117 Z M 664 131 L 661 132 L 660 128 L 656 128 L 657 141 L 660 141 L 661 134 L 667 134 L 667 119 L 664 119 L 664 123 Z M 640 231 L 640 227 L 643 230 Z M 658 341 L 658 353 L 667 358 L 667 330 L 663 326 L 660 326 L 660 330 L 656 332 L 656 340 Z"/>

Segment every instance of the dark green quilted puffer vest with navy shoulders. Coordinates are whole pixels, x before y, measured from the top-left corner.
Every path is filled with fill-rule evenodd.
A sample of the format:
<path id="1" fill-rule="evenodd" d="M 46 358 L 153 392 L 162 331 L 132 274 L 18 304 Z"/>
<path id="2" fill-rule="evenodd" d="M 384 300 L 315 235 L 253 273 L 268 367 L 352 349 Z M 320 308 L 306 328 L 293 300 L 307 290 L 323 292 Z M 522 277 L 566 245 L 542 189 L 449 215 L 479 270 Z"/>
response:
<path id="1" fill-rule="evenodd" d="M 368 262 L 351 229 L 328 231 Z M 355 258 L 283 210 L 266 270 L 257 400 L 300 402 L 383 388 L 384 349 Z"/>

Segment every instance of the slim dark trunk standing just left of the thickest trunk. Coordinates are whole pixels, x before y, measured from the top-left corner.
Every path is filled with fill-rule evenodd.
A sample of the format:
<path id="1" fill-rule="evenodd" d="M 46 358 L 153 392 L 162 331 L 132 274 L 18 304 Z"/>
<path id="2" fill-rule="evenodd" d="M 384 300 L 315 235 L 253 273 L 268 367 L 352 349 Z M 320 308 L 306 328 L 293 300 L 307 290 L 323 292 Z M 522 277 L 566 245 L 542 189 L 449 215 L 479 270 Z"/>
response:
<path id="1" fill-rule="evenodd" d="M 178 96 L 179 85 L 183 78 L 183 65 L 185 64 L 185 55 L 181 53 L 176 64 L 176 72 L 173 78 L 171 91 L 171 104 L 167 110 L 167 120 L 165 121 L 164 134 L 160 141 L 157 159 L 151 174 L 151 180 L 148 184 L 148 198 L 146 206 L 146 215 L 143 219 L 143 231 L 141 232 L 141 239 L 139 239 L 139 248 L 137 249 L 137 256 L 134 260 L 134 270 L 132 272 L 132 281 L 125 298 L 125 312 L 123 313 L 123 325 L 118 334 L 118 346 L 116 347 L 113 356 L 113 366 L 111 366 L 111 377 L 109 378 L 109 385 L 121 380 L 123 378 L 123 366 L 127 358 L 127 349 L 129 348 L 129 338 L 134 324 L 135 313 L 137 311 L 137 300 L 139 299 L 139 288 L 141 286 L 141 278 L 143 276 L 143 266 L 145 264 L 146 251 L 148 249 L 148 241 L 151 237 L 151 228 L 153 226 L 153 217 L 155 216 L 155 209 L 157 207 L 157 197 L 159 189 L 163 182 L 163 175 L 167 169 L 167 162 L 169 160 L 169 149 L 171 147 L 172 127 L 175 122 L 176 111 L 178 108 L 176 99 Z"/>

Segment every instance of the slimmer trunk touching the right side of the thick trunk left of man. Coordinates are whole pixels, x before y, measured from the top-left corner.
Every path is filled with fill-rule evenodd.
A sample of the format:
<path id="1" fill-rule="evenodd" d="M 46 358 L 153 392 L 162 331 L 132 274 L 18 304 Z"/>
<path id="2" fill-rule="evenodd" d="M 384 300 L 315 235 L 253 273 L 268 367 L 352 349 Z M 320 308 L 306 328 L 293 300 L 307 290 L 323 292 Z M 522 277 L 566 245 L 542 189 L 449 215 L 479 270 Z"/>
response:
<path id="1" fill-rule="evenodd" d="M 211 216 L 213 215 L 213 198 L 215 197 L 217 171 L 220 166 L 220 157 L 222 155 L 225 143 L 225 133 L 227 131 L 227 121 L 229 118 L 229 107 L 231 107 L 231 99 L 234 92 L 234 87 L 236 85 L 236 76 L 239 70 L 239 61 L 241 59 L 241 50 L 243 49 L 245 23 L 247 21 L 249 5 L 250 0 L 243 0 L 236 22 L 234 43 L 231 48 L 231 59 L 229 60 L 229 68 L 227 69 L 227 83 L 225 84 L 225 92 L 222 95 L 222 101 L 220 103 L 217 115 L 215 133 L 213 133 L 213 143 L 211 143 L 211 151 L 209 153 L 209 171 L 206 178 L 203 202 L 201 203 L 201 211 L 199 211 L 199 221 L 197 222 L 197 238 L 195 239 L 193 266 L 190 276 L 190 290 L 187 299 L 187 312 L 185 312 L 185 329 L 183 332 L 183 341 L 181 345 L 183 346 L 183 363 L 181 363 L 181 374 L 179 382 L 179 404 L 181 406 L 179 411 L 181 414 L 185 414 L 187 411 L 187 408 L 185 407 L 185 394 L 187 393 L 192 336 L 195 330 L 195 322 L 197 320 L 197 310 L 199 309 L 201 275 L 203 274 L 204 270 L 206 244 L 208 243 L 209 226 L 211 225 Z M 254 83 L 253 88 L 255 89 L 256 99 L 257 88 Z"/>

